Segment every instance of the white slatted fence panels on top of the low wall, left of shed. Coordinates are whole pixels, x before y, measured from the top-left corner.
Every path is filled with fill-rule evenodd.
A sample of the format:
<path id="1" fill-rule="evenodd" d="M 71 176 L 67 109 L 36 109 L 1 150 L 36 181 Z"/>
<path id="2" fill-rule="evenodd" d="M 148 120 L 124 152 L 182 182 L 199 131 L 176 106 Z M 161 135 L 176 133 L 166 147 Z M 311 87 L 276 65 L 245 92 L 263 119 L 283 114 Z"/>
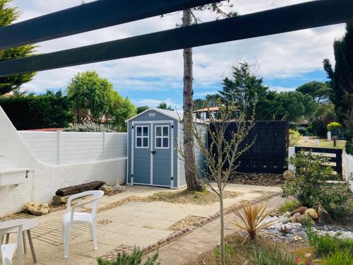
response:
<path id="1" fill-rule="evenodd" d="M 18 131 L 42 162 L 61 165 L 126 157 L 126 133 Z"/>

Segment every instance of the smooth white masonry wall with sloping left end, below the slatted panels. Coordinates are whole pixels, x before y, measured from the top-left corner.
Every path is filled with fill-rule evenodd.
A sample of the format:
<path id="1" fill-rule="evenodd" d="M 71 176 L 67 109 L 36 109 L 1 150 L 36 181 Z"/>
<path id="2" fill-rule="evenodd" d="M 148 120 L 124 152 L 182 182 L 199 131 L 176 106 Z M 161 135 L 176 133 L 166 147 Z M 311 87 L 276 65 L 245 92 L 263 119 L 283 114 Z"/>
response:
<path id="1" fill-rule="evenodd" d="M 49 137 L 50 138 L 50 137 Z M 109 137 L 108 137 L 109 138 Z M 48 148 L 51 141 L 48 141 Z M 29 167 L 28 180 L 15 186 L 0 187 L 0 216 L 20 211 L 28 201 L 49 202 L 57 189 L 95 180 L 122 184 L 126 177 L 126 158 L 99 162 L 50 165 L 32 153 L 0 107 L 0 155 L 5 164 Z M 108 155 L 109 158 L 109 155 Z"/>

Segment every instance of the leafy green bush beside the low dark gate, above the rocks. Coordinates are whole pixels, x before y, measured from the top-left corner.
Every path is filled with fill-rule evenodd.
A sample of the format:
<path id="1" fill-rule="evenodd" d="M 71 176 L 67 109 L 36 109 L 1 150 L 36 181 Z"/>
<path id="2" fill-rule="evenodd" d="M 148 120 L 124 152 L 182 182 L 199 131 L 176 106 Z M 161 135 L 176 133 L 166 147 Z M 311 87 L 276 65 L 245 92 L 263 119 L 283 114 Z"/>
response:
<path id="1" fill-rule="evenodd" d="M 329 158 L 300 151 L 289 161 L 294 164 L 296 173 L 294 179 L 282 185 L 284 196 L 294 196 L 302 205 L 310 208 L 321 204 L 336 218 L 347 212 L 349 188 L 345 182 L 328 182 L 340 178 L 328 166 Z"/>

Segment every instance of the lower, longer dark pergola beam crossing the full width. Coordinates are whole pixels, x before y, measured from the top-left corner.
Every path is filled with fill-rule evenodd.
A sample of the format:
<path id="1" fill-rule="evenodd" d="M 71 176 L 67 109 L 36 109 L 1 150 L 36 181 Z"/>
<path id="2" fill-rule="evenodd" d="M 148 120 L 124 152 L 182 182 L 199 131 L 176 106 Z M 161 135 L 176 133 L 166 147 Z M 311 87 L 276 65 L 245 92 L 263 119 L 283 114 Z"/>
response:
<path id="1" fill-rule="evenodd" d="M 345 23 L 352 19 L 352 0 L 311 1 L 123 40 L 4 61 L 0 62 L 0 76 L 304 30 Z"/>

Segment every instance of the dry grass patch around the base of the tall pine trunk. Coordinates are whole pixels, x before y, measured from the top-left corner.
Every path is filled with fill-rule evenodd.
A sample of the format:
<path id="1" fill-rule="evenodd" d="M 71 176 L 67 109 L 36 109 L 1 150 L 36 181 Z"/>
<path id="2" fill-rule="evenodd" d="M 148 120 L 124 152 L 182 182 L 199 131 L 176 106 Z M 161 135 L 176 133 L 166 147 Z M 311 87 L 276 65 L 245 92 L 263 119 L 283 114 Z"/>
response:
<path id="1" fill-rule="evenodd" d="M 240 196 L 239 192 L 224 192 L 224 198 Z M 157 192 L 148 196 L 151 201 L 166 201 L 171 204 L 213 204 L 219 201 L 217 194 L 205 189 L 203 192 L 189 192 L 184 189 L 177 192 Z"/>

